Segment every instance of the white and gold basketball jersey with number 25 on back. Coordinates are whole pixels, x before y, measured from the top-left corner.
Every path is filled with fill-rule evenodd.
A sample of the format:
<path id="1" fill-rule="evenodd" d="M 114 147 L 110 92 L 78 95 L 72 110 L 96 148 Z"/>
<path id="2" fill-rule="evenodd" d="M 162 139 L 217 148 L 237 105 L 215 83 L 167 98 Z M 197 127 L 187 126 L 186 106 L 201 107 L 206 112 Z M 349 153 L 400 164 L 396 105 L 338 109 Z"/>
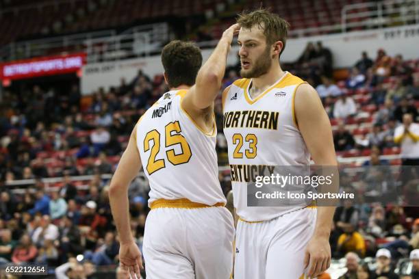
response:
<path id="1" fill-rule="evenodd" d="M 187 92 L 165 93 L 137 124 L 137 148 L 151 189 L 149 207 L 158 199 L 226 202 L 218 181 L 215 120 L 211 134 L 201 131 L 181 108 Z"/>

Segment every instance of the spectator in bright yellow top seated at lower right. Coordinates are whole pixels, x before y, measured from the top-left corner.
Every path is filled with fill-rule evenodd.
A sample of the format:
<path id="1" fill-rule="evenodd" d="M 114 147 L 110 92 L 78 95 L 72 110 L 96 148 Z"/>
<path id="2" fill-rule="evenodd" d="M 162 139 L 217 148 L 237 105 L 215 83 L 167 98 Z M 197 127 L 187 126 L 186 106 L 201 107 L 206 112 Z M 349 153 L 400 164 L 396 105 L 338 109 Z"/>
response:
<path id="1" fill-rule="evenodd" d="M 346 226 L 344 233 L 342 233 L 338 239 L 338 251 L 341 254 L 355 252 L 359 256 L 364 256 L 365 250 L 364 237 L 355 230 L 354 226 Z"/>

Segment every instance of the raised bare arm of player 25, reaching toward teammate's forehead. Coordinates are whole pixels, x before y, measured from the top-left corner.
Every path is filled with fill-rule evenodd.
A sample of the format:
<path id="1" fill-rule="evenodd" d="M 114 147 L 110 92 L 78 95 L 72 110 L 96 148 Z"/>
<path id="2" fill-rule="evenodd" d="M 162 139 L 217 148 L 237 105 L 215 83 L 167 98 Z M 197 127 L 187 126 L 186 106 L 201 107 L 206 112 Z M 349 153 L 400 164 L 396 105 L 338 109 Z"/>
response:
<path id="1" fill-rule="evenodd" d="M 199 121 L 199 124 L 203 123 L 205 127 L 212 127 L 212 117 L 208 118 L 207 116 L 212 116 L 214 99 L 223 82 L 227 54 L 231 48 L 233 36 L 238 33 L 238 29 L 238 24 L 235 24 L 224 31 L 214 52 L 199 70 L 195 85 L 190 88 L 182 100 L 181 106 L 194 120 L 202 118 L 210 120 Z"/>

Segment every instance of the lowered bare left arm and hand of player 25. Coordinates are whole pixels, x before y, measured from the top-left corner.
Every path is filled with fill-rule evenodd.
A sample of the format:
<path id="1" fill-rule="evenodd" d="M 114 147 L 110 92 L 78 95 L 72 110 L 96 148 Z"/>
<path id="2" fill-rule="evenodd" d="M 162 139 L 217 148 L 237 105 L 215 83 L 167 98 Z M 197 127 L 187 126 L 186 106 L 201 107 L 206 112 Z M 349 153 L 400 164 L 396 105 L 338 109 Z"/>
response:
<path id="1" fill-rule="evenodd" d="M 128 187 L 141 168 L 140 155 L 136 146 L 136 127 L 131 133 L 127 149 L 123 153 L 112 177 L 109 191 L 112 215 L 120 239 L 119 261 L 131 278 L 140 278 L 142 255 L 134 241 L 129 224 Z"/>

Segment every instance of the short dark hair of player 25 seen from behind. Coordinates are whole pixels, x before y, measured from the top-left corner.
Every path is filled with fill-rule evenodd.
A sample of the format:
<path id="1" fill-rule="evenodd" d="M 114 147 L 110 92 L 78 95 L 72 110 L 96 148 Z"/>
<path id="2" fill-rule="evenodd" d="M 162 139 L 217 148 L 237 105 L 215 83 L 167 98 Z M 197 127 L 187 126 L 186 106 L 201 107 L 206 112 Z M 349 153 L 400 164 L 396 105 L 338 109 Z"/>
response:
<path id="1" fill-rule="evenodd" d="M 201 68 L 201 50 L 192 42 L 173 40 L 162 50 L 162 64 L 169 88 L 192 86 Z"/>

